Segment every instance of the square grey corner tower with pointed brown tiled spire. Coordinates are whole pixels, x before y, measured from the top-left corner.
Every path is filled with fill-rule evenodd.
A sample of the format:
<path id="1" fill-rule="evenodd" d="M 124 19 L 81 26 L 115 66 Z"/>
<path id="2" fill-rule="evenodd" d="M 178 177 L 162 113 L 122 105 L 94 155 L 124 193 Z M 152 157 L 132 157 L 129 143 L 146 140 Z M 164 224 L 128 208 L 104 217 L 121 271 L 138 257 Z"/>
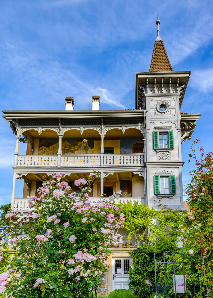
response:
<path id="1" fill-rule="evenodd" d="M 157 38 L 149 72 L 136 73 L 136 109 L 148 110 L 145 124 L 147 205 L 158 209 L 160 200 L 170 208 L 184 210 L 181 142 L 184 133 L 190 138 L 194 126 L 183 130 L 188 124 L 181 120 L 180 107 L 191 72 L 173 70 L 160 38 L 159 19 L 156 24 Z M 192 114 L 187 115 L 188 121 L 193 122 Z M 196 115 L 197 120 L 200 114 Z"/>

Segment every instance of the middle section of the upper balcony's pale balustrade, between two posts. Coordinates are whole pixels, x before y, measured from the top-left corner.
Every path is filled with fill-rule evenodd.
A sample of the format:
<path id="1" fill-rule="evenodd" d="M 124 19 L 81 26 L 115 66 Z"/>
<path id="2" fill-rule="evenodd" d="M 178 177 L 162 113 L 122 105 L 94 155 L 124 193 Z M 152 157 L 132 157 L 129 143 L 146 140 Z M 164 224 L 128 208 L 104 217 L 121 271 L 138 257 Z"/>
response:
<path id="1" fill-rule="evenodd" d="M 61 167 L 90 167 L 101 164 L 100 154 L 87 155 L 61 155 Z"/>

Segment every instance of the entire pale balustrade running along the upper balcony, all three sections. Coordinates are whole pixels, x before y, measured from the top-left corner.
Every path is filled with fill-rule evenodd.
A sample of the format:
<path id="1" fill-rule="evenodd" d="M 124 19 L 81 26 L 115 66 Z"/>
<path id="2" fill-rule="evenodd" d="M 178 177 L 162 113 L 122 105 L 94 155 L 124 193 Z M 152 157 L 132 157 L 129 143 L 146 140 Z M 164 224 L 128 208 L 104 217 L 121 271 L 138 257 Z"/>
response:
<path id="1" fill-rule="evenodd" d="M 140 154 L 87 154 L 87 155 L 18 155 L 15 167 L 66 168 L 98 166 L 142 166 L 144 155 Z"/>

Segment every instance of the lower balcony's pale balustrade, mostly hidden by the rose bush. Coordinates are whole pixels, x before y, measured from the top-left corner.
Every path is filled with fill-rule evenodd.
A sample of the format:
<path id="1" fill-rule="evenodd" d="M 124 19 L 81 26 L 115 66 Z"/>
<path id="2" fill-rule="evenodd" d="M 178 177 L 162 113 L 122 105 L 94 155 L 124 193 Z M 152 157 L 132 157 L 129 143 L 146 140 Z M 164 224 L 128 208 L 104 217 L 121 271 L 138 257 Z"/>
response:
<path id="1" fill-rule="evenodd" d="M 91 200 L 91 202 L 95 201 L 100 201 L 100 198 L 98 197 L 91 197 L 89 198 Z M 77 198 L 78 200 L 78 198 Z M 135 197 L 120 197 L 119 199 L 117 199 L 117 203 L 118 202 L 139 202 L 141 204 L 145 203 L 145 198 L 144 197 L 139 197 L 139 196 L 135 196 Z M 33 208 L 29 208 L 28 206 L 28 198 L 15 198 L 14 201 L 11 203 L 11 211 L 15 211 L 15 212 L 29 212 L 32 211 Z"/>

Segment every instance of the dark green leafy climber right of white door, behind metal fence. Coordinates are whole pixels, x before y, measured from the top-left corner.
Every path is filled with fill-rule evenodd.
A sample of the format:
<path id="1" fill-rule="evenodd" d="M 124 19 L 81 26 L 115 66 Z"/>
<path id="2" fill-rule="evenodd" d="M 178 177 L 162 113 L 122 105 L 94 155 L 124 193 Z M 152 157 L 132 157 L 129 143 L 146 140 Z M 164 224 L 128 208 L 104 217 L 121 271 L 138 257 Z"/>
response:
<path id="1" fill-rule="evenodd" d="M 155 292 L 155 267 L 154 267 L 154 253 L 155 249 L 152 246 L 142 245 L 138 246 L 137 251 L 130 251 L 133 258 L 132 268 L 129 269 L 130 289 L 134 291 L 135 297 L 147 298 Z M 156 260 L 163 262 L 163 251 L 156 253 Z M 181 248 L 176 247 L 174 250 L 174 260 L 176 262 L 182 261 Z M 165 260 L 168 262 L 173 261 L 172 251 L 165 251 Z M 184 256 L 184 260 L 189 260 L 189 256 Z M 173 294 L 173 264 L 166 264 L 166 289 L 168 297 L 174 297 Z M 185 264 L 185 274 L 188 276 L 192 273 L 191 264 Z M 156 269 L 157 284 L 162 284 L 165 288 L 165 271 L 164 264 L 158 264 Z M 175 273 L 183 274 L 183 264 L 175 264 Z M 188 297 L 191 297 L 193 284 L 187 281 Z M 162 295 L 163 296 L 163 295 Z"/>

